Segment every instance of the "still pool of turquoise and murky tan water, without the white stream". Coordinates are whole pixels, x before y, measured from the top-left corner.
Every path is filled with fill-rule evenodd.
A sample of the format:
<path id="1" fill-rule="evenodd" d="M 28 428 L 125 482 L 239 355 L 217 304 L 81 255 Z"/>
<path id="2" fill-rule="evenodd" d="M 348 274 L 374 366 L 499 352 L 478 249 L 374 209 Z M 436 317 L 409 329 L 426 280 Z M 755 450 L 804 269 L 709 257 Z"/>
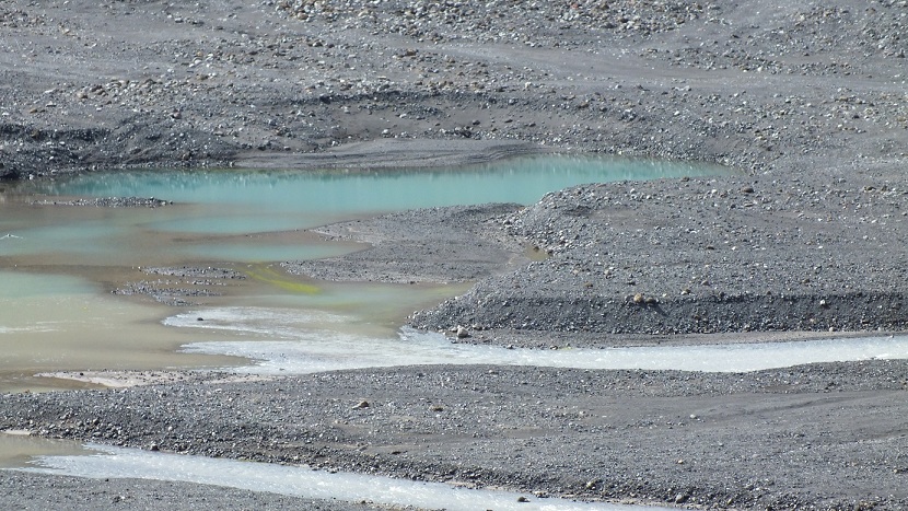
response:
<path id="1" fill-rule="evenodd" d="M 304 232 L 335 221 L 422 207 L 531 204 L 583 183 L 726 172 L 546 156 L 456 170 L 114 172 L 11 185 L 0 193 L 0 392 L 31 385 L 30 375 L 38 372 L 236 363 L 175 352 L 182 345 L 221 339 L 222 333 L 212 339 L 213 330 L 166 328 L 160 321 L 171 313 L 163 306 L 110 294 L 135 282 L 185 286 L 142 267 L 224 265 L 248 278 L 210 284 L 223 295 L 200 298 L 199 303 L 290 310 L 294 317 L 306 317 L 298 318 L 304 330 L 395 338 L 407 313 L 463 287 L 313 283 L 268 263 L 361 249 Z M 78 197 L 158 197 L 173 204 L 51 205 Z M 344 321 L 322 325 L 321 318 L 334 316 Z M 270 336 L 231 332 L 244 340 Z"/>

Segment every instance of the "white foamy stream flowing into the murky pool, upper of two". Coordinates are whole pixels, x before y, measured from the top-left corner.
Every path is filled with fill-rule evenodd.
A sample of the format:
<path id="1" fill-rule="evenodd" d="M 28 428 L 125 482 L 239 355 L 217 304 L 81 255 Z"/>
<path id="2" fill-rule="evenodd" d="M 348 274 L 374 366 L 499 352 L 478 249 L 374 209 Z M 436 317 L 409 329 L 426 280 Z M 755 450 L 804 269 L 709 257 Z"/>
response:
<path id="1" fill-rule="evenodd" d="M 254 359 L 254 365 L 240 371 L 259 374 L 442 363 L 743 372 L 814 362 L 908 358 L 908 336 L 539 350 L 453 344 L 443 335 L 412 329 L 403 329 L 397 338 L 364 337 L 339 329 L 337 326 L 345 321 L 344 316 L 296 310 L 225 307 L 178 314 L 164 324 L 261 339 L 212 340 L 183 348 L 193 353 Z"/>

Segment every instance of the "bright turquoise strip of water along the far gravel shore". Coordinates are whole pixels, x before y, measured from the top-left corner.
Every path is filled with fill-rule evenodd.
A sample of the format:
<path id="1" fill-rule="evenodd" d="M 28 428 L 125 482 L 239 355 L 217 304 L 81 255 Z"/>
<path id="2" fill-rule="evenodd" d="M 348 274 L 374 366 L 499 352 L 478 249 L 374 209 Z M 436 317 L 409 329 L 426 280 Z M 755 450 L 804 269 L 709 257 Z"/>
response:
<path id="1" fill-rule="evenodd" d="M 39 183 L 32 193 L 158 197 L 207 205 L 148 228 L 191 233 L 305 229 L 356 216 L 486 202 L 531 204 L 585 183 L 721 174 L 718 166 L 589 156 L 545 156 L 467 169 L 407 172 L 118 172 Z"/>

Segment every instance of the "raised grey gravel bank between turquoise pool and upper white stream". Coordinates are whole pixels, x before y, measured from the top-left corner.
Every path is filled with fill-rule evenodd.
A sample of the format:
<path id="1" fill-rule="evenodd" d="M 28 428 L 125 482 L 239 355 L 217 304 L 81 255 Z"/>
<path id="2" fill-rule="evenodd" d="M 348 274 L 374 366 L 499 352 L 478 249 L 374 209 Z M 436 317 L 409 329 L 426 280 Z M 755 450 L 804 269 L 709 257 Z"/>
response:
<path id="1" fill-rule="evenodd" d="M 499 229 L 550 254 L 421 328 L 710 334 L 908 328 L 908 189 L 752 177 L 549 194 Z"/>

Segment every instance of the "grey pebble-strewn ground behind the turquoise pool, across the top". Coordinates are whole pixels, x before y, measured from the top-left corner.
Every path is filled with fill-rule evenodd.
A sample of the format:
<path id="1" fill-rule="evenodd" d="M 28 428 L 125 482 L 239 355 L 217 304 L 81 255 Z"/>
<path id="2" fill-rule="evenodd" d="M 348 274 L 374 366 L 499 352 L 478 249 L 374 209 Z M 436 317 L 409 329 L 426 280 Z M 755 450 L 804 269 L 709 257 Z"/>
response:
<path id="1" fill-rule="evenodd" d="M 14 176 L 467 139 L 863 164 L 905 156 L 905 16 L 889 0 L 16 0 L 0 159 Z"/>

